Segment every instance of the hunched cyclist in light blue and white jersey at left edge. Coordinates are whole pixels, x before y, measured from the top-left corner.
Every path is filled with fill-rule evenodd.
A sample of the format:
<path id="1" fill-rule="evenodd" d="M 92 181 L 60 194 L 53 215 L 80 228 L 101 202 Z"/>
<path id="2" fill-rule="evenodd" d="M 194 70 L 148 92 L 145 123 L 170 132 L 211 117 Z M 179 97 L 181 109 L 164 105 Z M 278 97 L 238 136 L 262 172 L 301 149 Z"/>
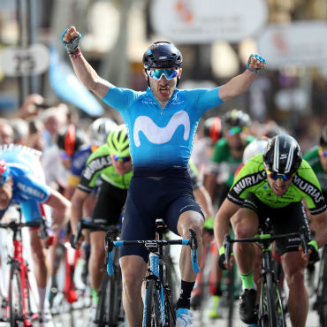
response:
<path id="1" fill-rule="evenodd" d="M 44 182 L 41 152 L 21 145 L 6 144 L 0 146 L 0 217 L 11 204 L 19 203 L 26 222 L 39 221 L 44 216 L 42 203 L 52 207 L 54 220 L 52 227 L 58 231 L 68 220 L 71 203 Z M 40 325 L 53 326 L 52 318 L 46 306 L 46 286 L 48 263 L 44 251 L 45 245 L 39 237 L 39 229 L 30 229 L 30 245 L 34 262 L 34 275 L 39 293 L 38 308 Z"/>

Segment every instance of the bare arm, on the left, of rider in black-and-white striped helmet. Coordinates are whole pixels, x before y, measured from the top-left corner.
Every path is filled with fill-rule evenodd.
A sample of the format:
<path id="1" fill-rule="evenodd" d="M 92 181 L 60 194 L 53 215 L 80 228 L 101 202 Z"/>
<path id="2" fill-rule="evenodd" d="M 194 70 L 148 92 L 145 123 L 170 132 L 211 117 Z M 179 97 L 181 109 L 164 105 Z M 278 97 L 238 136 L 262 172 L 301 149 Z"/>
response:
<path id="1" fill-rule="evenodd" d="M 224 200 L 223 204 L 219 208 L 215 217 L 215 239 L 218 248 L 222 247 L 224 244 L 224 235 L 229 233 L 229 223 L 235 212 L 240 209 L 240 206 L 231 202 L 227 198 Z"/>

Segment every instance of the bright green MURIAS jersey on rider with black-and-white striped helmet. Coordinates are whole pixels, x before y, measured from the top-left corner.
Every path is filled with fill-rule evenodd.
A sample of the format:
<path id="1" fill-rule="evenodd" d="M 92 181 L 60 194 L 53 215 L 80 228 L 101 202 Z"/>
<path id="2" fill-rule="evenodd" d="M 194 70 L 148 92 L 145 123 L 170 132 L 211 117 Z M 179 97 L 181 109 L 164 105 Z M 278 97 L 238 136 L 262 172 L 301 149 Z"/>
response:
<path id="1" fill-rule="evenodd" d="M 300 169 L 293 176 L 286 193 L 283 196 L 277 196 L 268 184 L 267 174 L 263 168 L 262 154 L 253 157 L 240 170 L 227 197 L 230 201 L 241 205 L 250 192 L 271 208 L 283 208 L 292 202 L 300 202 L 305 199 L 308 209 L 313 215 L 326 209 L 316 174 L 305 160 L 302 161 Z"/>

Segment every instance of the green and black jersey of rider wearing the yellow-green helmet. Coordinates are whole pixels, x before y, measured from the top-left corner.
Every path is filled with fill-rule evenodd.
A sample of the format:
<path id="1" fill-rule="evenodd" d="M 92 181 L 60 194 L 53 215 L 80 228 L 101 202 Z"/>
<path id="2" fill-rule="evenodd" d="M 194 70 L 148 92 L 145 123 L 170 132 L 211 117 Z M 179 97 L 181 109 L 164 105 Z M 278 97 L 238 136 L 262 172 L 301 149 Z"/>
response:
<path id="1" fill-rule="evenodd" d="M 96 186 L 96 180 L 99 175 L 101 179 L 111 185 L 127 189 L 133 171 L 129 171 L 124 175 L 118 175 L 111 162 L 110 149 L 107 144 L 103 144 L 103 146 L 97 148 L 95 152 L 88 157 L 78 188 L 84 192 L 91 193 L 93 188 Z"/>

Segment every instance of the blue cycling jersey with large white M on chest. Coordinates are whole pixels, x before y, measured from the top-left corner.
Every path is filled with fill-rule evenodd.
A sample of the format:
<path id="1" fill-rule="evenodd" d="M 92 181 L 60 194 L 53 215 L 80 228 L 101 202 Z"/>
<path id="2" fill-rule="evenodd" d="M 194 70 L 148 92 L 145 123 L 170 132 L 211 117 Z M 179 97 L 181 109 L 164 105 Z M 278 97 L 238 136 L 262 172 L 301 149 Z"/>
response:
<path id="1" fill-rule="evenodd" d="M 151 89 L 114 87 L 103 101 L 124 118 L 135 176 L 176 176 L 187 171 L 202 114 L 223 101 L 218 89 L 175 90 L 164 109 Z"/>

